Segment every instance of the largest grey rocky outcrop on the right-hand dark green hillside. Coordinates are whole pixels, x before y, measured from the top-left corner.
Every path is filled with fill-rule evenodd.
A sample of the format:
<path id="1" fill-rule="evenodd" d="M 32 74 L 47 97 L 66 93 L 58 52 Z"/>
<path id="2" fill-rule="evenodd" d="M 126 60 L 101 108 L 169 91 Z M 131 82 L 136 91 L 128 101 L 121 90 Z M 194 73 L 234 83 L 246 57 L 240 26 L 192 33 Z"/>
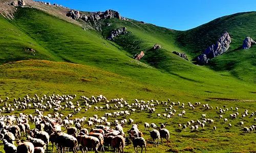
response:
<path id="1" fill-rule="evenodd" d="M 200 56 L 197 57 L 197 63 L 199 65 L 207 64 L 210 59 L 225 53 L 228 50 L 230 43 L 231 37 L 227 32 L 225 32 L 218 39 L 216 44 L 209 46 Z"/>

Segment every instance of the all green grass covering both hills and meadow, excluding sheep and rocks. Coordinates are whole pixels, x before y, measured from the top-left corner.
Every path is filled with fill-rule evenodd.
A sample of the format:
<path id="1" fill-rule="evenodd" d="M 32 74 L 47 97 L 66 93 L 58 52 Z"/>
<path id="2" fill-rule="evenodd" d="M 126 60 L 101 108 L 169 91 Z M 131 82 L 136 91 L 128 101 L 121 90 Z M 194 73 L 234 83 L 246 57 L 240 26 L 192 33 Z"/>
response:
<path id="1" fill-rule="evenodd" d="M 1 98 L 9 96 L 12 99 L 35 93 L 86 96 L 103 94 L 108 98 L 123 97 L 129 103 L 135 98 L 170 98 L 185 104 L 201 101 L 214 108 L 223 105 L 239 107 L 240 114 L 244 109 L 249 112 L 256 110 L 255 102 L 243 102 L 256 99 L 255 48 L 253 46 L 248 50 L 236 50 L 247 35 L 255 37 L 255 12 L 222 17 L 185 32 L 135 20 L 108 19 L 101 21 L 100 33 L 92 29 L 83 30 L 78 25 L 31 8 L 18 8 L 14 16 L 13 20 L 0 17 Z M 105 27 L 107 22 L 111 24 L 110 27 Z M 238 24 L 240 22 L 242 25 Z M 117 37 L 114 42 L 105 40 L 112 29 L 122 26 L 130 33 Z M 197 66 L 172 54 L 173 51 L 186 53 L 189 60 L 192 60 L 214 43 L 222 30 L 228 30 L 231 34 L 231 47 L 228 53 L 211 60 L 209 66 Z M 155 43 L 162 48 L 151 49 Z M 33 48 L 35 53 L 27 52 L 28 48 Z M 142 50 L 145 56 L 141 61 L 132 59 L 133 55 Z M 175 109 L 181 112 L 181 108 L 176 106 Z M 216 118 L 218 114 L 215 109 L 204 110 L 198 107 L 195 111 L 187 108 L 186 111 L 184 117 L 176 116 L 170 120 L 157 119 L 156 114 L 146 112 L 137 112 L 131 118 L 139 123 L 140 129 L 143 129 L 145 121 L 167 123 L 172 143 L 168 146 L 160 145 L 161 150 L 152 146 L 148 132 L 143 131 L 150 152 L 169 149 L 195 152 L 254 150 L 255 144 L 251 142 L 255 133 L 243 134 L 240 131 L 241 127 L 237 123 L 241 118 L 229 119 L 233 127 L 228 130 L 225 129 L 227 125 Z M 34 110 L 26 111 L 33 112 Z M 71 110 L 61 113 L 70 112 Z M 157 112 L 164 113 L 164 107 L 159 106 Z M 95 113 L 102 115 L 104 112 L 91 110 L 75 117 Z M 178 123 L 199 119 L 204 113 L 207 118 L 215 118 L 216 132 L 211 132 L 211 126 L 195 133 L 190 133 L 189 130 L 176 132 Z M 224 118 L 228 116 L 229 112 Z M 149 118 L 151 121 L 148 121 Z M 244 120 L 246 126 L 253 123 L 252 118 Z M 125 130 L 129 128 L 130 126 L 126 126 Z M 131 145 L 126 148 L 127 152 L 133 151 Z"/>

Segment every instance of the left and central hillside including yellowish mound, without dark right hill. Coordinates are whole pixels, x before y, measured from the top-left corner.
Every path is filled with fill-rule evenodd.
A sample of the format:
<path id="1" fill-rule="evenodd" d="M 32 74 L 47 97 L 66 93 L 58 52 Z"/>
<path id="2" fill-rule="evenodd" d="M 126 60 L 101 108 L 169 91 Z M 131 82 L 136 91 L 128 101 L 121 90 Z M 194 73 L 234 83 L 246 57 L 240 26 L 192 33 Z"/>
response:
<path id="1" fill-rule="evenodd" d="M 117 38 L 120 40 L 119 42 L 112 42 L 105 39 L 110 29 L 103 28 L 102 37 L 101 33 L 95 30 L 84 30 L 77 24 L 72 24 L 34 8 L 18 8 L 14 17 L 13 20 L 6 20 L 5 18 L 0 20 L 3 31 L 15 30 L 12 35 L 6 33 L 6 38 L 1 40 L 2 44 L 8 41 L 12 45 L 2 45 L 3 49 L 0 56 L 2 60 L 0 62 L 3 64 L 16 60 L 43 59 L 77 63 L 115 74 L 109 77 L 110 82 L 112 82 L 108 84 L 109 86 L 105 83 L 88 82 L 89 85 L 86 88 L 88 94 L 100 94 L 102 92 L 102 94 L 110 96 L 116 94 L 133 98 L 140 95 L 146 98 L 169 97 L 174 100 L 255 99 L 256 91 L 253 85 L 234 79 L 230 74 L 218 73 L 206 67 L 194 65 L 172 54 L 173 50 L 182 51 L 174 41 L 176 33 L 173 30 L 159 28 L 152 24 L 142 24 L 133 20 L 103 20 L 102 24 L 113 22 L 111 28 L 125 25 L 127 30 L 132 32 L 130 33 L 131 36 L 124 35 Z M 15 37 L 15 35 L 22 37 L 17 37 L 18 41 L 9 38 Z M 122 37 L 126 38 L 121 39 Z M 130 39 L 132 37 L 134 39 Z M 134 46 L 138 48 L 134 48 L 133 45 L 131 47 L 122 45 L 121 41 L 123 40 L 127 41 L 126 44 L 128 45 L 134 41 L 137 43 Z M 153 52 L 150 49 L 155 43 L 161 44 L 163 48 Z M 24 52 L 26 47 L 34 49 L 35 56 Z M 142 61 L 132 59 L 132 55 L 141 50 L 147 51 Z M 69 64 L 53 63 L 56 67 L 56 72 L 53 72 L 59 75 L 52 75 L 51 72 L 54 68 L 52 69 L 50 66 L 51 62 L 49 62 L 49 70 L 47 70 L 48 68 L 37 67 L 38 61 L 28 62 L 29 64 L 24 63 L 27 62 L 22 61 L 2 66 L 2 75 L 0 75 L 3 84 L 1 95 L 5 95 L 11 87 L 18 89 L 11 92 L 13 95 L 20 92 L 49 93 L 42 90 L 49 86 L 54 86 L 51 91 L 67 93 L 74 90 L 82 93 L 84 86 L 87 86 L 80 82 L 82 73 L 97 73 L 79 70 L 79 77 L 66 76 L 63 75 L 66 73 L 62 72 L 65 71 L 64 67 L 61 67 L 61 72 L 57 69 L 61 65 Z M 10 70 L 8 66 L 16 67 L 16 70 Z M 67 66 L 66 69 L 72 71 L 73 67 Z M 102 77 L 97 78 L 99 82 L 103 82 L 105 77 L 108 78 L 105 73 L 99 72 L 99 74 L 102 75 Z M 123 77 L 121 80 L 127 81 L 123 83 L 117 76 Z M 89 80 L 90 78 L 93 78 L 92 75 L 90 75 Z M 62 80 L 66 81 L 61 82 Z M 20 91 L 19 89 L 24 87 L 23 81 L 33 89 L 25 88 Z M 59 89 L 57 89 L 58 86 L 55 87 L 56 83 L 60 87 Z M 37 84 L 40 87 L 37 88 Z M 126 91 L 127 89 L 129 92 Z"/>

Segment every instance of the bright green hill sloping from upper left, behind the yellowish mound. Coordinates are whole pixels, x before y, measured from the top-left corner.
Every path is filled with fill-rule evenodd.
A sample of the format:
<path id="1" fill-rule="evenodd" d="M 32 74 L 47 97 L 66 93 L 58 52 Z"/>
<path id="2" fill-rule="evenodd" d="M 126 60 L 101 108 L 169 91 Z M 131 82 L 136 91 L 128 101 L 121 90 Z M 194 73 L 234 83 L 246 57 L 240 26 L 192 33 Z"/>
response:
<path id="1" fill-rule="evenodd" d="M 148 97 L 156 96 L 156 89 L 158 89 L 158 97 L 168 96 L 184 100 L 188 97 L 190 99 L 217 97 L 254 99 L 255 97 L 255 89 L 252 85 L 234 79 L 228 73 L 218 73 L 206 67 L 196 66 L 172 54 L 173 50 L 180 51 L 177 43 L 173 41 L 175 38 L 173 30 L 159 28 L 152 24 L 142 24 L 133 20 L 106 20 L 106 22 L 113 22 L 113 28 L 125 24 L 127 30 L 132 32 L 130 33 L 131 36 L 123 36 L 127 39 L 118 38 L 121 41 L 129 41 L 129 43 L 124 43 L 127 45 L 131 45 L 131 42 L 135 41 L 136 45 L 134 46 L 139 47 L 137 49 L 133 47 L 127 49 L 129 46 L 121 46 L 121 41 L 114 43 L 105 40 L 107 29 L 103 29 L 102 37 L 96 31 L 84 31 L 77 25 L 36 9 L 19 8 L 14 20 L 2 18 L 1 21 L 8 24 L 8 26 L 2 27 L 6 31 L 13 29 L 18 35 L 23 36 L 17 38 L 20 39 L 19 41 L 8 40 L 9 43 L 12 43 L 9 47 L 13 47 L 14 52 L 24 53 L 24 46 L 16 47 L 16 45 L 26 42 L 28 47 L 36 50 L 35 56 L 26 52 L 19 56 L 19 54 L 2 51 L 4 54 L 1 57 L 5 60 L 1 60 L 1 63 L 15 61 L 17 58 L 26 60 L 32 57 L 31 59 L 47 59 L 89 65 L 130 78 L 134 81 L 134 86 L 137 84 L 144 85 L 144 87 L 135 88 L 134 92 L 146 92 Z M 145 31 L 146 29 L 148 32 Z M 6 39 L 2 39 L 2 41 L 5 43 Z M 30 42 L 33 45 L 29 46 Z M 163 48 L 157 50 L 157 52 L 150 50 L 155 43 L 161 44 Z M 147 49 L 146 56 L 141 62 L 131 58 L 136 50 L 140 52 L 140 50 L 145 49 Z M 12 56 L 8 56 L 10 54 Z M 16 79 L 24 79 L 22 78 L 23 75 L 15 74 L 16 71 L 12 73 L 13 76 L 16 76 Z M 11 75 L 7 76 L 11 77 Z M 61 78 L 61 76 L 56 77 Z M 33 77 L 30 79 L 33 79 Z M 37 81 L 37 78 L 33 80 Z M 115 81 L 115 77 L 113 77 L 113 81 Z M 116 83 L 118 83 L 118 80 L 116 80 Z M 93 85 L 93 83 L 91 84 Z M 152 88 L 150 88 L 151 86 Z M 98 87 L 102 88 L 99 85 Z M 65 90 L 61 91 L 65 92 Z M 120 90 L 115 91 L 116 94 L 120 95 Z M 90 91 L 88 92 L 90 93 Z M 126 94 L 127 97 L 130 95 L 134 94 Z"/>

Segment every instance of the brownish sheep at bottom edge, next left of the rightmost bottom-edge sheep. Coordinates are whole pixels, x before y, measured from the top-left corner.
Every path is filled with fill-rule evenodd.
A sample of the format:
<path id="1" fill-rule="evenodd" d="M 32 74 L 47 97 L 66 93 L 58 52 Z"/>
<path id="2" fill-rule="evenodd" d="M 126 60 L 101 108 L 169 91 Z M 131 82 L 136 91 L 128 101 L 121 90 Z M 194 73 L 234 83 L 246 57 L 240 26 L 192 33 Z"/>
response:
<path id="1" fill-rule="evenodd" d="M 116 152 L 123 152 L 124 146 L 125 146 L 125 140 L 123 136 L 118 135 L 112 138 L 111 145 L 114 148 L 114 151 Z"/>

